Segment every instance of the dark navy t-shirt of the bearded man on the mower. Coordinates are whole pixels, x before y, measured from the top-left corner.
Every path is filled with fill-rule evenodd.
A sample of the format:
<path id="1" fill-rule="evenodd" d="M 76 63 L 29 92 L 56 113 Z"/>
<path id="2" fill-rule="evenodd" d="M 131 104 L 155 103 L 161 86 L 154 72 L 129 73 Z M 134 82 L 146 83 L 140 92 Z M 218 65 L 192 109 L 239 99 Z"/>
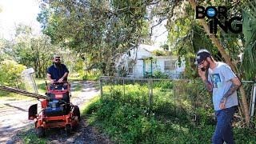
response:
<path id="1" fill-rule="evenodd" d="M 48 68 L 47 73 L 51 75 L 52 79 L 55 79 L 55 81 L 58 81 L 59 78 L 62 78 L 62 76 L 65 73 L 68 73 L 69 70 L 67 70 L 66 66 L 64 64 L 61 64 L 60 67 L 52 65 Z M 66 78 L 64 79 L 66 81 Z"/>

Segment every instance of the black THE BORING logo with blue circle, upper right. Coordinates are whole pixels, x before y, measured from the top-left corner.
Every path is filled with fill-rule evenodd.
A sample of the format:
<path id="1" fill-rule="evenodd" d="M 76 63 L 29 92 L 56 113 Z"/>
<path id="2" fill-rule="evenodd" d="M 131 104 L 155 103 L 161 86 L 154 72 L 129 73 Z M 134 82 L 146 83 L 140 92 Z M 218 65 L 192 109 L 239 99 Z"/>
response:
<path id="1" fill-rule="evenodd" d="M 242 17 L 227 18 L 227 9 L 225 6 L 218 6 L 218 10 L 214 6 L 196 6 L 196 19 L 209 18 L 210 34 L 217 33 L 217 26 L 220 26 L 226 33 L 230 30 L 234 34 L 242 32 Z M 222 24 L 221 20 L 225 20 Z M 236 21 L 236 22 L 234 22 Z M 232 23 L 234 22 L 234 23 Z"/>

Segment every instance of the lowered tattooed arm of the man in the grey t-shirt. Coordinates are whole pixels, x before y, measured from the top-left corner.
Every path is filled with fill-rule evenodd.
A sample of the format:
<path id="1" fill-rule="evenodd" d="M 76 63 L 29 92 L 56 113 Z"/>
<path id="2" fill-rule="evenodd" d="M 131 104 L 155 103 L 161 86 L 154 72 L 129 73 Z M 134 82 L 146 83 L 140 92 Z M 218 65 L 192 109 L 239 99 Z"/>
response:
<path id="1" fill-rule="evenodd" d="M 241 86 L 241 82 L 237 77 L 234 77 L 231 79 L 231 86 L 230 89 L 227 90 L 226 94 L 223 95 L 221 103 L 219 105 L 220 109 L 226 109 L 226 100 L 230 97 L 231 94 L 233 94 L 236 90 L 238 90 L 239 86 Z"/>

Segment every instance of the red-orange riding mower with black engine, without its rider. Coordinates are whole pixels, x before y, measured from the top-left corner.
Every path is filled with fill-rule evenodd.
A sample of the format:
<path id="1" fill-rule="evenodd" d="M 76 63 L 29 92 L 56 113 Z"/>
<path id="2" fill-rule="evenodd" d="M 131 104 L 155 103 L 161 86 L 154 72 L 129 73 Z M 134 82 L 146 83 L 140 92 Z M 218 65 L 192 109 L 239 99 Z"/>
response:
<path id="1" fill-rule="evenodd" d="M 70 83 L 46 83 L 46 87 L 46 98 L 39 99 L 42 110 L 38 112 L 38 104 L 30 106 L 29 119 L 34 120 L 39 138 L 45 135 L 46 129 L 57 127 L 65 128 L 68 135 L 80 120 L 79 107 L 70 103 Z"/>

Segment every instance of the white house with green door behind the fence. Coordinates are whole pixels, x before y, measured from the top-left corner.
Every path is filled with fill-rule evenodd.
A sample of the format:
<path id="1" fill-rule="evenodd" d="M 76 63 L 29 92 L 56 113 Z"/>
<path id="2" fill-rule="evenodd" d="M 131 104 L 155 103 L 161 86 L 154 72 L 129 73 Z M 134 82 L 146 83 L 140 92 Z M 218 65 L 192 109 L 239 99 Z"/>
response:
<path id="1" fill-rule="evenodd" d="M 156 56 L 152 53 L 154 50 L 162 50 L 162 48 L 141 44 L 138 49 L 134 48 L 123 54 L 116 61 L 118 75 L 122 76 L 124 74 L 134 78 L 145 78 L 160 71 L 163 74 L 168 74 L 170 78 L 178 78 L 185 70 L 184 59 L 179 65 L 178 57 Z"/>

